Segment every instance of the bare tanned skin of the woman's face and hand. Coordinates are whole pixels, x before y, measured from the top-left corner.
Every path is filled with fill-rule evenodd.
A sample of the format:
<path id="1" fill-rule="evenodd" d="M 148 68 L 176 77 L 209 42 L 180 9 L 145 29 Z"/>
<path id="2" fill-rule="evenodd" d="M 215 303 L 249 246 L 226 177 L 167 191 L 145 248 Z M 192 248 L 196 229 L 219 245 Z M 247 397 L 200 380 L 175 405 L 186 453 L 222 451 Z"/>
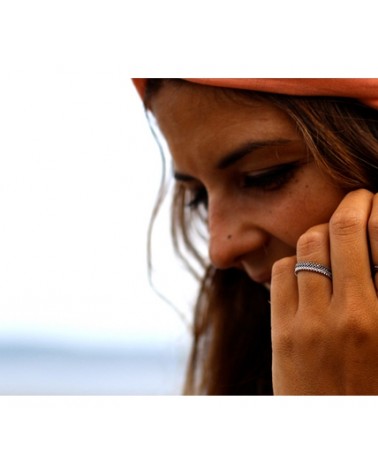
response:
<path id="1" fill-rule="evenodd" d="M 376 197 L 345 195 L 270 104 L 165 84 L 151 109 L 177 181 L 206 197 L 213 265 L 271 284 L 274 393 L 378 393 Z M 295 277 L 297 261 L 332 267 L 333 280 Z"/>

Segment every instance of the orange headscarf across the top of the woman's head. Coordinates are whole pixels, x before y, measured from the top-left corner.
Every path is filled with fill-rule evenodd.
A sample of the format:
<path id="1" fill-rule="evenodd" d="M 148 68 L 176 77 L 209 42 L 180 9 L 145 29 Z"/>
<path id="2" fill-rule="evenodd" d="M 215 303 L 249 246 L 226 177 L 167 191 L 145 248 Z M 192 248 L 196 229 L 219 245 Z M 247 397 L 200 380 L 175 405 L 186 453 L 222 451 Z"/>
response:
<path id="1" fill-rule="evenodd" d="M 147 79 L 133 79 L 143 98 Z M 378 79 L 184 79 L 203 85 L 302 96 L 349 97 L 378 109 Z"/>

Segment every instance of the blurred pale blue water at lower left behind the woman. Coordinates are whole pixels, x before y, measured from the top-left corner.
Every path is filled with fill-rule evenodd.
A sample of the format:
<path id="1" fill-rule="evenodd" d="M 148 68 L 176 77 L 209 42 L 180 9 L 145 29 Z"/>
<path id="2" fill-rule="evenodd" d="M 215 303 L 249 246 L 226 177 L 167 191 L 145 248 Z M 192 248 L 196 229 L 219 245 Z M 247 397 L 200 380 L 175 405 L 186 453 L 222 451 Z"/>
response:
<path id="1" fill-rule="evenodd" d="M 0 395 L 179 395 L 180 343 L 115 345 L 0 340 Z"/>

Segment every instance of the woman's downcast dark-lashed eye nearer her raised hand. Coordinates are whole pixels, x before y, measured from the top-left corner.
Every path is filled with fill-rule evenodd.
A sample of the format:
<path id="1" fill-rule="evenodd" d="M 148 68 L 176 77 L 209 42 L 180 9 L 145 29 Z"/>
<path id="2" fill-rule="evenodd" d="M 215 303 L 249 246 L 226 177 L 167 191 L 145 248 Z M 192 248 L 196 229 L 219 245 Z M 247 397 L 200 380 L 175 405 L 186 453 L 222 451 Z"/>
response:
<path id="1" fill-rule="evenodd" d="M 268 170 L 258 171 L 243 176 L 242 187 L 255 188 L 267 192 L 279 190 L 294 176 L 298 162 L 282 164 Z"/>

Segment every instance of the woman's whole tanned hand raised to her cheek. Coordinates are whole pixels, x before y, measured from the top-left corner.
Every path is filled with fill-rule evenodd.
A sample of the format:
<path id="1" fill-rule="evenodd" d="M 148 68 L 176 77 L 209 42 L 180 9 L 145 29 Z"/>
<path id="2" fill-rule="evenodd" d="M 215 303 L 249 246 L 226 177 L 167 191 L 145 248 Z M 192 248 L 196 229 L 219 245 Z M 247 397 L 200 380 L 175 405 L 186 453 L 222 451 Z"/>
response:
<path id="1" fill-rule="evenodd" d="M 296 262 L 332 267 L 332 280 L 294 275 Z M 309 229 L 297 257 L 272 271 L 275 395 L 378 394 L 378 195 L 345 196 L 329 224 Z"/>

